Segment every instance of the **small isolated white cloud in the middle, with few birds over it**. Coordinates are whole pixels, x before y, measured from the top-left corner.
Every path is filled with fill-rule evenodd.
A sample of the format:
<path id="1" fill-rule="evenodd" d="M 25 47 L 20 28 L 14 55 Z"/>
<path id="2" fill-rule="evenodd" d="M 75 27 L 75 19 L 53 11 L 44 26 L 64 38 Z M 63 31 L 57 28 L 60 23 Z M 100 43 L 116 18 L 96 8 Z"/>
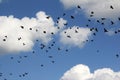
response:
<path id="1" fill-rule="evenodd" d="M 82 48 L 85 45 L 85 41 L 89 40 L 91 34 L 92 32 L 89 28 L 73 26 L 71 29 L 65 29 L 60 33 L 60 42 L 65 45 Z"/>

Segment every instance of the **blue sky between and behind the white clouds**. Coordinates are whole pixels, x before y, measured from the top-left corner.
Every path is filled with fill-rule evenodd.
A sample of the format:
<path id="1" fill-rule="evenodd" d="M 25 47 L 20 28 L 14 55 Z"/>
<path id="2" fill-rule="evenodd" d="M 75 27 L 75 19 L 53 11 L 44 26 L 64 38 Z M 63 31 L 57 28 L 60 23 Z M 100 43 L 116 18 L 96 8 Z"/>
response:
<path id="1" fill-rule="evenodd" d="M 66 20 L 68 25 L 65 29 L 73 26 L 85 28 L 85 25 L 89 24 L 89 28 L 97 27 L 99 31 L 96 33 L 96 36 L 92 35 L 89 38 L 89 40 L 93 39 L 94 41 L 87 42 L 82 48 L 74 44 L 66 45 L 61 43 L 59 33 L 53 36 L 52 41 L 48 42 L 47 47 L 53 41 L 56 42 L 55 46 L 48 53 L 45 52 L 47 48 L 45 50 L 39 48 L 42 41 L 34 41 L 34 46 L 32 46 L 32 50 L 35 51 L 34 54 L 30 49 L 27 51 L 19 50 L 18 52 L 9 52 L 8 50 L 6 54 L 4 50 L 2 52 L 1 49 L 3 48 L 0 47 L 0 72 L 3 73 L 3 77 L 0 77 L 0 80 L 4 80 L 4 78 L 7 78 L 7 80 L 59 80 L 68 69 L 77 64 L 89 66 L 91 72 L 101 68 L 111 68 L 116 72 L 120 71 L 120 58 L 116 58 L 116 54 L 120 52 L 119 33 L 111 36 L 107 35 L 103 32 L 103 26 L 95 22 L 97 18 L 90 18 L 92 22 L 87 21 L 87 12 L 84 10 L 76 8 L 66 9 L 59 0 L 2 0 L 0 3 L 0 16 L 13 15 L 18 19 L 26 16 L 36 18 L 36 13 L 39 11 L 44 11 L 47 15 L 50 15 L 54 22 L 57 20 L 57 17 Z M 62 16 L 63 13 L 66 13 L 66 16 Z M 74 20 L 70 19 L 71 15 L 75 16 Z M 109 19 L 108 16 L 107 18 Z M 0 26 L 2 26 L 1 24 Z M 11 23 L 10 25 L 14 24 Z M 115 21 L 113 26 L 109 26 L 109 23 L 106 22 L 104 27 L 117 30 L 119 25 L 119 21 Z M 12 34 L 12 32 L 10 33 Z M 15 45 L 14 40 L 12 44 L 9 46 Z M 58 47 L 62 50 L 58 51 Z M 66 49 L 69 51 L 66 52 Z M 28 56 L 27 58 L 24 57 L 26 55 Z M 48 58 L 50 55 L 53 56 L 52 59 Z M 20 59 L 20 56 L 22 59 Z M 11 57 L 13 57 L 13 60 L 11 60 Z M 21 62 L 18 63 L 17 61 Z M 53 64 L 51 61 L 55 61 L 55 63 Z M 41 67 L 41 64 L 44 66 Z M 19 75 L 25 72 L 28 75 L 19 77 Z M 9 75 L 10 73 L 13 75 Z"/>

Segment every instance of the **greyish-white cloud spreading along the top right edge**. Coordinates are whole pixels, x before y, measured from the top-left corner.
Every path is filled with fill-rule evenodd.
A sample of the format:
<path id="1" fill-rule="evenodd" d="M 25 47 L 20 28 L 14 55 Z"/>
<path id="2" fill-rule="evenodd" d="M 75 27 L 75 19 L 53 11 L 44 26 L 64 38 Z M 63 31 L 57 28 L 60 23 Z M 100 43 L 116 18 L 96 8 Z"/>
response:
<path id="1" fill-rule="evenodd" d="M 65 8 L 74 8 L 80 5 L 82 10 L 89 15 L 91 11 L 94 11 L 95 18 L 109 18 L 115 19 L 120 17 L 120 0 L 60 0 Z M 110 6 L 114 9 L 111 9 Z"/>

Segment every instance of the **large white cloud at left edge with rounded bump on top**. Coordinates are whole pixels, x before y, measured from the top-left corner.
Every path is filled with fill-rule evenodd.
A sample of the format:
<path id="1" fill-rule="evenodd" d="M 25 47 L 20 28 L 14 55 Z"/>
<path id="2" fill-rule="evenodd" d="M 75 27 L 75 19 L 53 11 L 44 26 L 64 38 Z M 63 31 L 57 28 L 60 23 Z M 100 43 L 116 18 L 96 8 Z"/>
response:
<path id="1" fill-rule="evenodd" d="M 51 33 L 58 29 L 51 17 L 40 11 L 35 18 L 0 16 L 0 53 L 29 51 L 34 46 L 34 40 L 43 43 L 52 40 Z"/>

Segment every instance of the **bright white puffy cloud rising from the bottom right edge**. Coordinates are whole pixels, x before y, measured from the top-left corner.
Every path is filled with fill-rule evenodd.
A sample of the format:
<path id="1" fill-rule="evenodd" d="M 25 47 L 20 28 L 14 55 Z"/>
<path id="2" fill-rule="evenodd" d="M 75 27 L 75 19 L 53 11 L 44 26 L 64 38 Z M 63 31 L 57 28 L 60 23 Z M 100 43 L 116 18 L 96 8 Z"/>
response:
<path id="1" fill-rule="evenodd" d="M 103 68 L 91 73 L 88 66 L 79 64 L 65 72 L 60 80 L 120 80 L 120 72 Z"/>

